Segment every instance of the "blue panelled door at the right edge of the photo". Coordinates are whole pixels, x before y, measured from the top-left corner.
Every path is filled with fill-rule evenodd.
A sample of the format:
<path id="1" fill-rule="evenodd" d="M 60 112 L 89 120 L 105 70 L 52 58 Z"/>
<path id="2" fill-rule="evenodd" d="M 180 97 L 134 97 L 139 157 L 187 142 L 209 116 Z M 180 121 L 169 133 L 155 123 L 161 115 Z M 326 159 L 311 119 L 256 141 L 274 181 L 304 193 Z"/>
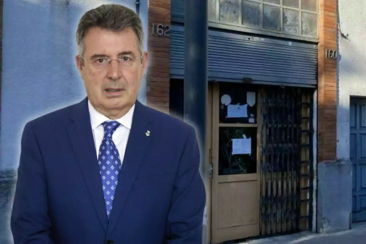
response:
<path id="1" fill-rule="evenodd" d="M 350 159 L 353 164 L 352 221 L 366 221 L 366 100 L 351 100 Z"/>

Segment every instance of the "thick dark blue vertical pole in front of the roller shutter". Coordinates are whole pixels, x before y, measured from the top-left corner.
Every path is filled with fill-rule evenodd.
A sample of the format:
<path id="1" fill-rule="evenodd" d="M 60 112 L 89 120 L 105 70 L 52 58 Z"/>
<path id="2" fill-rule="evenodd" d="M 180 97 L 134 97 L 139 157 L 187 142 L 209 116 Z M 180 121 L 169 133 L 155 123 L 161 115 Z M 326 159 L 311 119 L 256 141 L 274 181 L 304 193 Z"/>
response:
<path id="1" fill-rule="evenodd" d="M 208 1 L 185 0 L 184 12 L 184 120 L 193 125 L 201 151 L 200 173 L 206 185 L 207 128 L 207 15 Z M 206 223 L 203 223 L 206 226 Z M 203 229 L 206 243 L 206 230 Z"/>

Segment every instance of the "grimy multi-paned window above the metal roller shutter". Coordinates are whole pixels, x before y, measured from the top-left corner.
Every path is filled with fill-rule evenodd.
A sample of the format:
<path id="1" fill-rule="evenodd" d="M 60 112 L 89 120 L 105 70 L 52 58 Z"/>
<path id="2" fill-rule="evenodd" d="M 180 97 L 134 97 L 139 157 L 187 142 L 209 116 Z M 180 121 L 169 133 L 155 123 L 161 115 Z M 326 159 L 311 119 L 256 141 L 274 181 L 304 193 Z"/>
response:
<path id="1" fill-rule="evenodd" d="M 208 0 L 209 22 L 318 37 L 318 0 Z"/>

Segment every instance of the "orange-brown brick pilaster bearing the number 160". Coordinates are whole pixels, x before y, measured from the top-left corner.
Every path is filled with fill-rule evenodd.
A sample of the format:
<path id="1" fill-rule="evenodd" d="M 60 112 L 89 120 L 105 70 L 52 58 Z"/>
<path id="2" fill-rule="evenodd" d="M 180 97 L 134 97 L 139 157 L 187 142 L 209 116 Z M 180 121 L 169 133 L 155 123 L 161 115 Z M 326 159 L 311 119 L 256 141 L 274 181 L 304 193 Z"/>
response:
<path id="1" fill-rule="evenodd" d="M 318 162 L 336 159 L 337 60 L 325 50 L 337 50 L 337 0 L 320 0 L 318 45 Z"/>

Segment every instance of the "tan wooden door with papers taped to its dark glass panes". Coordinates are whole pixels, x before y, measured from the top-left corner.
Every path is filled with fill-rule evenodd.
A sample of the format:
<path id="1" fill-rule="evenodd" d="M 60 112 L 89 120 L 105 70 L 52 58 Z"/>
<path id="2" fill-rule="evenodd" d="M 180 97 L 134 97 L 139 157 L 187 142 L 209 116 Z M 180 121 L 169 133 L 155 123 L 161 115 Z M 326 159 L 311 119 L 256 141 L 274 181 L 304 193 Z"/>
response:
<path id="1" fill-rule="evenodd" d="M 209 96 L 210 97 L 210 96 Z M 259 234 L 258 92 L 236 83 L 212 87 L 211 243 Z"/>

